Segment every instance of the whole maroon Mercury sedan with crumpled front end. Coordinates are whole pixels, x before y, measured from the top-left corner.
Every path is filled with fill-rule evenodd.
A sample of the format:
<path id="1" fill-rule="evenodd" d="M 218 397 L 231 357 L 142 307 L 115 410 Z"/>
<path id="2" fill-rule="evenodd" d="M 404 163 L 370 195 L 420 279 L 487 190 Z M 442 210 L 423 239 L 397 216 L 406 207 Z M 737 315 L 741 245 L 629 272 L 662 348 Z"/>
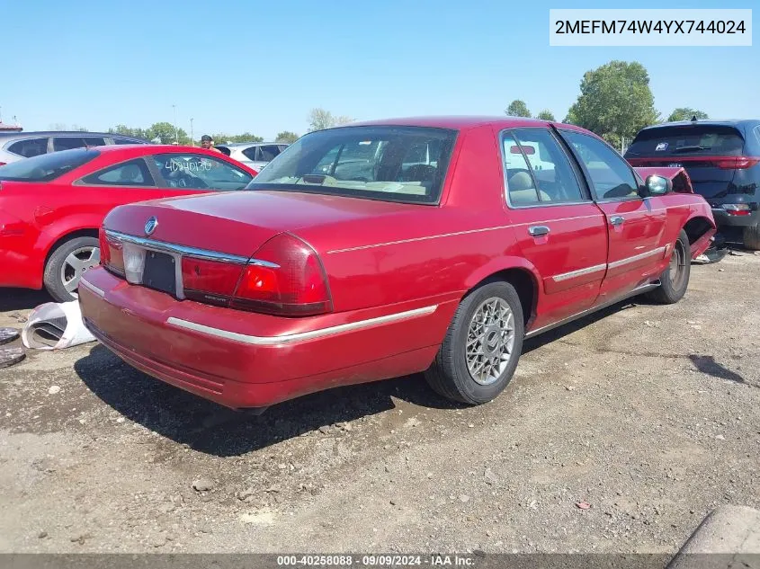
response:
<path id="1" fill-rule="evenodd" d="M 421 371 L 481 404 L 523 338 L 684 296 L 715 225 L 668 176 L 644 181 L 601 138 L 541 120 L 321 130 L 252 191 L 112 210 L 79 302 L 123 360 L 221 405 Z"/>

